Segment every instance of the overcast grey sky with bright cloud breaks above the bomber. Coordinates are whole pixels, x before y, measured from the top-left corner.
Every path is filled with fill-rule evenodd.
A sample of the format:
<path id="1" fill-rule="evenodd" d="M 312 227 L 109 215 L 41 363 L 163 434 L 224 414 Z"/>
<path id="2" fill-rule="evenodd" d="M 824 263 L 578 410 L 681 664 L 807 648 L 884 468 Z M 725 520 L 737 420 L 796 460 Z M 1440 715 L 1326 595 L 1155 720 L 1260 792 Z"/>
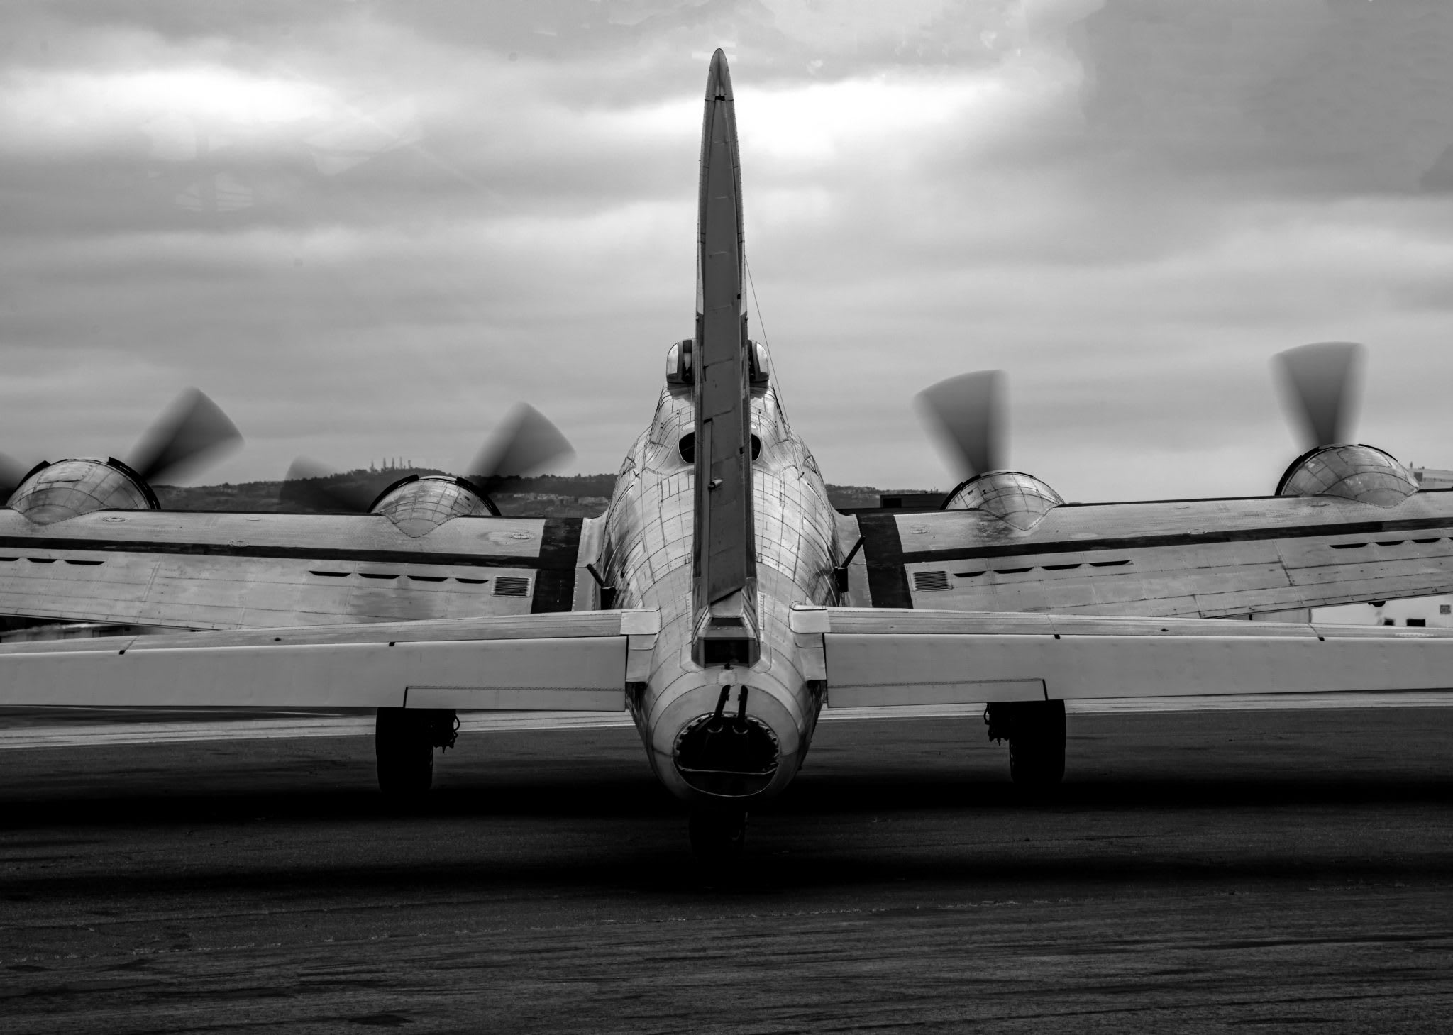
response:
<path id="1" fill-rule="evenodd" d="M 711 51 L 830 481 L 947 487 L 914 394 L 1008 372 L 1068 499 L 1270 493 L 1268 358 L 1369 346 L 1359 439 L 1453 467 L 1446 0 L 173 0 L 0 10 L 0 449 L 193 481 L 458 470 L 516 400 L 615 471 L 692 333 Z"/>

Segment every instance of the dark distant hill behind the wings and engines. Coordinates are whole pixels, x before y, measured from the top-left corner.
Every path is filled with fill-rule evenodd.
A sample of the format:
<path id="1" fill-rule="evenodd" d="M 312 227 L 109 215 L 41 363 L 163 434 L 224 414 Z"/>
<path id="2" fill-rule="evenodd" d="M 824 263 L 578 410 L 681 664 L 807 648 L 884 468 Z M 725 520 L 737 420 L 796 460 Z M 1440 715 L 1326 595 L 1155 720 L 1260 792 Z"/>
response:
<path id="1" fill-rule="evenodd" d="M 320 480 L 334 488 L 356 490 L 372 497 L 400 478 L 411 474 L 445 474 L 433 468 L 394 468 L 371 471 L 359 468 Z M 615 490 L 613 474 L 542 474 L 533 478 L 511 478 L 493 494 L 501 513 L 529 518 L 596 518 L 604 513 Z M 157 499 L 166 510 L 218 510 L 248 513 L 305 513 L 307 507 L 278 499 L 280 481 L 244 481 L 222 486 L 155 486 Z M 828 500 L 834 507 L 876 507 L 879 490 L 867 486 L 828 486 Z"/>

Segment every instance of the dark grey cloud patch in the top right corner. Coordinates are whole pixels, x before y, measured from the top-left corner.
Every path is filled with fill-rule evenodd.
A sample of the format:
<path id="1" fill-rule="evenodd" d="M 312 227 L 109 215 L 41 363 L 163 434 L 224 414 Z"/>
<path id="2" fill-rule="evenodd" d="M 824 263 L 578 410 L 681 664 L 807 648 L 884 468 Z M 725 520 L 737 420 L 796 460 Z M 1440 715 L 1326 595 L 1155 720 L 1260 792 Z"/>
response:
<path id="1" fill-rule="evenodd" d="M 1438 0 L 1117 0 L 1072 41 L 1093 132 L 1177 176 L 1417 190 L 1453 144 Z"/>

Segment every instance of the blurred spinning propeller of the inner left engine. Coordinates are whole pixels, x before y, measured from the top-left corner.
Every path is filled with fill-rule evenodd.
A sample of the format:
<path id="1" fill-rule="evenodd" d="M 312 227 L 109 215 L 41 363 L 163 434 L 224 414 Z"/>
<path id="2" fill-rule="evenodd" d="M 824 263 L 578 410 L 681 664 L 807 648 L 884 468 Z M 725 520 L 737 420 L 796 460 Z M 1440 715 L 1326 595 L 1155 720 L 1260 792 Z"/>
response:
<path id="1" fill-rule="evenodd" d="M 481 496 L 490 496 L 506 478 L 539 474 L 574 455 L 574 448 L 555 424 L 535 407 L 520 403 L 471 461 L 464 478 Z M 279 499 L 309 510 L 368 513 L 376 493 L 357 483 L 340 484 L 334 480 L 337 474 L 317 461 L 299 456 L 288 468 Z"/>

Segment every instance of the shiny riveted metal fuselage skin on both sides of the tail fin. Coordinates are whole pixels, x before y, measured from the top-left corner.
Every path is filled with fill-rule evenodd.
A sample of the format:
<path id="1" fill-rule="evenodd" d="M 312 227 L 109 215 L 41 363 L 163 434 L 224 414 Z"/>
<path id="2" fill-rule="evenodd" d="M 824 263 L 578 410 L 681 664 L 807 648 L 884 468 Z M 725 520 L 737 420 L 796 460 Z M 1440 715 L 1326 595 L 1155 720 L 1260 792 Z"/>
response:
<path id="1" fill-rule="evenodd" d="M 692 526 L 695 470 L 680 440 L 696 426 L 687 387 L 667 385 L 651 427 L 620 468 L 604 516 L 600 571 L 616 587 L 618 608 L 660 608 L 661 632 L 644 688 L 631 708 L 655 775 L 684 800 L 712 798 L 692 788 L 674 749 L 693 721 L 711 715 L 722 688 L 735 715 L 747 686 L 747 715 L 766 724 L 780 757 L 770 784 L 751 797 L 785 788 L 802 763 L 822 704 L 806 660 L 788 628 L 793 603 L 831 603 L 840 557 L 834 512 L 817 462 L 792 432 L 774 388 L 751 392 L 751 432 L 761 442 L 751 465 L 753 533 L 758 579 L 761 656 L 756 664 L 703 666 L 692 657 Z"/>

